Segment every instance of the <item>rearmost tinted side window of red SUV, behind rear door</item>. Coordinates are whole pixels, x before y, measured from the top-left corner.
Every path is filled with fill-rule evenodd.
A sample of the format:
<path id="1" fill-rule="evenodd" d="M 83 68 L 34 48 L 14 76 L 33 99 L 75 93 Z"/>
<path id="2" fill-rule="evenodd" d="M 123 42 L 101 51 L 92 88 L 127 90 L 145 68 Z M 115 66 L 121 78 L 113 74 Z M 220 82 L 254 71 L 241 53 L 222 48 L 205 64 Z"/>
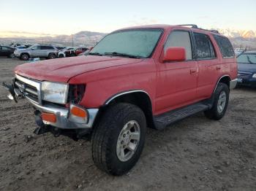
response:
<path id="1" fill-rule="evenodd" d="M 232 44 L 230 43 L 230 40 L 227 39 L 227 37 L 214 35 L 214 39 L 217 41 L 223 58 L 233 58 L 235 56 Z"/>

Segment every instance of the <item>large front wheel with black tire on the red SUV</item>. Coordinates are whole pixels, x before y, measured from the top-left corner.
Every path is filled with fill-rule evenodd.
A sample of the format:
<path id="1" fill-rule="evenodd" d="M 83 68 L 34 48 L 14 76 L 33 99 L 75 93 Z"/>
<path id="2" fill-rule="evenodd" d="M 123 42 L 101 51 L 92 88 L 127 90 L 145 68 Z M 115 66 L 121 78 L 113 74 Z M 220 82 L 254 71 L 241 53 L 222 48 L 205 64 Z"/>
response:
<path id="1" fill-rule="evenodd" d="M 130 131 L 125 131 L 129 127 L 132 127 Z M 132 135 L 136 139 L 129 138 Z M 140 158 L 145 136 L 146 117 L 138 106 L 124 103 L 110 106 L 102 114 L 92 134 L 92 158 L 95 165 L 115 176 L 127 173 Z M 134 152 L 130 150 L 131 147 L 124 149 L 125 144 L 131 144 Z M 120 155 L 121 150 L 124 150 L 125 155 Z"/>

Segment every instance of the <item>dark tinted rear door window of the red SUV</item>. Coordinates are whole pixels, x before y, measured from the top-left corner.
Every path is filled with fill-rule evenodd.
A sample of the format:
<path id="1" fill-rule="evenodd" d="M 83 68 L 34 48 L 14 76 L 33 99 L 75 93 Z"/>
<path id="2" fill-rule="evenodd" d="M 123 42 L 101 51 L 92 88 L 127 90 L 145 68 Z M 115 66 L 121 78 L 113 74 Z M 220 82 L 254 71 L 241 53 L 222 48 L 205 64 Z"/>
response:
<path id="1" fill-rule="evenodd" d="M 198 59 L 214 58 L 215 54 L 211 56 L 213 50 L 212 44 L 206 34 L 194 33 L 196 55 Z M 214 51 L 213 51 L 214 52 Z"/>

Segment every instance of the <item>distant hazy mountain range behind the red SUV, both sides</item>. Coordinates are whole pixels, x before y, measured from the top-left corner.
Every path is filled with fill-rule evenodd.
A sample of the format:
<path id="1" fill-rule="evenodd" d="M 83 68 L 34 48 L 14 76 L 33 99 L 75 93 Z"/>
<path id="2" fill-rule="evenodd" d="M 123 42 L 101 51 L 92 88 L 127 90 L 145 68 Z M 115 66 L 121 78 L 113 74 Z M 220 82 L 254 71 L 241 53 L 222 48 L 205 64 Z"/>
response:
<path id="1" fill-rule="evenodd" d="M 256 50 L 256 31 L 246 31 L 246 30 L 232 30 L 232 29 L 222 29 L 217 28 L 220 34 L 230 38 L 230 41 L 233 44 L 233 47 L 237 48 L 249 48 Z M 10 44 L 11 42 L 20 42 L 20 43 L 43 43 L 43 44 L 55 44 L 55 45 L 64 45 L 74 46 L 85 45 L 85 46 L 94 46 L 105 33 L 91 32 L 91 31 L 80 31 L 74 35 L 44 35 L 44 36 L 31 36 L 26 37 L 22 36 L 18 32 L 19 36 L 3 36 L 1 37 L 0 33 L 0 44 Z M 25 33 L 26 34 L 26 33 Z"/>

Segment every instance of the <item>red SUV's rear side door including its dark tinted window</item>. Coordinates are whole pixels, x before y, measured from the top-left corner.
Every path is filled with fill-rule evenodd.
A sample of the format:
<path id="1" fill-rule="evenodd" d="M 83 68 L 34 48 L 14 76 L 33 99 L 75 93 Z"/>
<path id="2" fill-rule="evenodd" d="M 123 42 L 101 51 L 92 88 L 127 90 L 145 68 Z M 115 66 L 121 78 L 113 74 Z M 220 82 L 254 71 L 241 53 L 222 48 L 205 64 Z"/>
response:
<path id="1" fill-rule="evenodd" d="M 193 32 L 195 40 L 195 56 L 198 66 L 197 98 L 211 97 L 216 85 L 221 66 L 211 37 L 207 34 Z"/>

